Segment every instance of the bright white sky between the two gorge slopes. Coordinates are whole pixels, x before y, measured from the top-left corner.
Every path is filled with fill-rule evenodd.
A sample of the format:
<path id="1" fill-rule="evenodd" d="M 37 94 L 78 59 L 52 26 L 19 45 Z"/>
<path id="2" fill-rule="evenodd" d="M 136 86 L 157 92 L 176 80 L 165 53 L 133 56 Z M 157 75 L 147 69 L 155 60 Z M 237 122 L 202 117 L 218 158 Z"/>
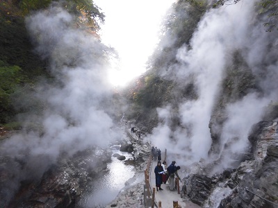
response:
<path id="1" fill-rule="evenodd" d="M 120 63 L 109 72 L 113 85 L 124 86 L 146 71 L 145 62 L 158 43 L 163 15 L 174 1 L 94 0 L 106 15 L 101 40 L 120 56 Z"/>

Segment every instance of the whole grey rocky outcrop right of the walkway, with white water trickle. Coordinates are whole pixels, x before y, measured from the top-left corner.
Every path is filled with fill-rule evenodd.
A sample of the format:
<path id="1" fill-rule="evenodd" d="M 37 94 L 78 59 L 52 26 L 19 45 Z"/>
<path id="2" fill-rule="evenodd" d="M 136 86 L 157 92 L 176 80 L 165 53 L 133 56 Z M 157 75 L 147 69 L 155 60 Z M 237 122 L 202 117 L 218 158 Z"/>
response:
<path id="1" fill-rule="evenodd" d="M 199 162 L 199 171 L 186 178 L 186 197 L 202 207 L 278 207 L 277 121 L 254 125 L 250 152 L 238 168 L 210 175 L 217 162 Z"/>

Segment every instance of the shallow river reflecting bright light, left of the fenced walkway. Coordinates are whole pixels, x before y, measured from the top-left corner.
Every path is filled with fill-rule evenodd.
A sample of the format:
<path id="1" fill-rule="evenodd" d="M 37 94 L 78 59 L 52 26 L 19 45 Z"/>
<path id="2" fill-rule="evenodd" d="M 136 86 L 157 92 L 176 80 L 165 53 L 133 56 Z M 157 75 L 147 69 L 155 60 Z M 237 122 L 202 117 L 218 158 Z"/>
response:
<path id="1" fill-rule="evenodd" d="M 120 152 L 119 149 L 120 145 L 111 147 L 113 154 L 118 153 L 124 155 L 126 159 L 132 159 L 130 153 Z M 79 203 L 80 207 L 105 207 L 116 198 L 120 190 L 124 188 L 124 183 L 135 174 L 133 166 L 125 165 L 116 157 L 112 157 L 112 162 L 107 168 L 108 171 L 104 175 L 90 184 L 92 190 L 83 195 Z"/>

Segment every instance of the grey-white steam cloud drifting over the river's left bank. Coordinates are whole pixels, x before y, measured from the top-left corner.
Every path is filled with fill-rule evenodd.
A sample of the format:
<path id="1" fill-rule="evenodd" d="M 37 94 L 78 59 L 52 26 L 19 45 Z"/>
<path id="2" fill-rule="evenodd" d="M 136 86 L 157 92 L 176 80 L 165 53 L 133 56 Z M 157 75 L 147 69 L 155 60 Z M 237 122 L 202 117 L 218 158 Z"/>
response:
<path id="1" fill-rule="evenodd" d="M 108 48 L 76 28 L 72 20 L 56 6 L 26 19 L 35 51 L 49 60 L 51 74 L 60 83 L 42 82 L 35 89 L 35 96 L 44 103 L 42 116 L 24 117 L 40 123 L 43 135 L 28 130 L 1 145 L 1 155 L 26 162 L 24 170 L 10 167 L 15 177 L 7 191 L 16 190 L 21 180 L 40 178 L 60 153 L 71 156 L 92 146 L 106 147 L 121 137 L 106 108 L 112 95 L 106 80 Z M 6 195 L 8 201 L 13 193 Z"/>

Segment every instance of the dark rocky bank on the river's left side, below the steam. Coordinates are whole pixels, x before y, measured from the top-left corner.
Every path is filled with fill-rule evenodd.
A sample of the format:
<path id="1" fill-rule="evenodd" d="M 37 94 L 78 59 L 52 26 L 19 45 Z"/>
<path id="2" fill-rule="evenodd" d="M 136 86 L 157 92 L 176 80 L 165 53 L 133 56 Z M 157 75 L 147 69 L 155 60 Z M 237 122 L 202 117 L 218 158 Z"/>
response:
<path id="1" fill-rule="evenodd" d="M 63 156 L 42 178 L 22 180 L 21 186 L 15 189 L 11 177 L 19 176 L 14 175 L 10 164 L 18 166 L 21 162 L 1 157 L 0 207 L 74 207 L 90 181 L 106 169 L 110 160 L 111 152 L 101 149 L 85 150 L 73 157 Z M 24 169 L 23 162 L 21 166 Z M 8 194 L 10 191 L 15 192 L 14 196 Z"/>

